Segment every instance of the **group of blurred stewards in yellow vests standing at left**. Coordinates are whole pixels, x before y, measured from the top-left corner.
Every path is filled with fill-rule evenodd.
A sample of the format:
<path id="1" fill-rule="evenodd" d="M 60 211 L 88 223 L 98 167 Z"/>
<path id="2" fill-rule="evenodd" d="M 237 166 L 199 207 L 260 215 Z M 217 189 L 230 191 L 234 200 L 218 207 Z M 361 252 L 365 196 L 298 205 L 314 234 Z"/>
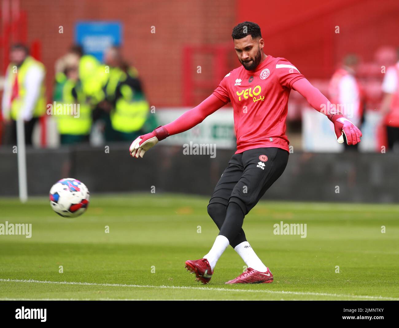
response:
<path id="1" fill-rule="evenodd" d="M 103 62 L 84 54 L 82 46 L 71 46 L 55 62 L 50 104 L 45 74 L 45 65 L 30 55 L 25 44 L 11 46 L 2 97 L 4 144 L 16 144 L 19 115 L 28 145 L 32 145 L 35 125 L 45 115 L 55 118 L 61 145 L 88 143 L 95 122 L 100 122 L 105 142 L 132 141 L 156 127 L 138 71 L 122 58 L 118 46 L 105 50 Z"/>

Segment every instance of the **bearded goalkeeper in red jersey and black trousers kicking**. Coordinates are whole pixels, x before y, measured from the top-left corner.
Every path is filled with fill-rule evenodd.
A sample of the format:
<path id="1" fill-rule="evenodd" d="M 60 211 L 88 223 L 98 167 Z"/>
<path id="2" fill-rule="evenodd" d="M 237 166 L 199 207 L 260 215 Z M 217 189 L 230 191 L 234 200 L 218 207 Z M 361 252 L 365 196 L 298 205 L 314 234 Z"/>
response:
<path id="1" fill-rule="evenodd" d="M 257 24 L 238 24 L 233 28 L 232 37 L 241 66 L 229 72 L 198 106 L 172 123 L 135 139 L 130 145 L 130 155 L 143 157 L 158 141 L 191 129 L 231 102 L 237 151 L 223 171 L 207 207 L 219 235 L 209 252 L 199 260 L 186 261 L 186 268 L 195 273 L 197 280 L 208 283 L 217 260 L 231 245 L 248 268 L 227 284 L 270 283 L 273 274 L 251 248 L 242 226 L 245 215 L 287 165 L 289 142 L 285 121 L 290 90 L 298 91 L 314 109 L 330 119 L 338 143 L 346 141 L 348 145 L 356 145 L 361 131 L 331 107 L 328 99 L 288 60 L 265 54 L 265 42 Z"/>

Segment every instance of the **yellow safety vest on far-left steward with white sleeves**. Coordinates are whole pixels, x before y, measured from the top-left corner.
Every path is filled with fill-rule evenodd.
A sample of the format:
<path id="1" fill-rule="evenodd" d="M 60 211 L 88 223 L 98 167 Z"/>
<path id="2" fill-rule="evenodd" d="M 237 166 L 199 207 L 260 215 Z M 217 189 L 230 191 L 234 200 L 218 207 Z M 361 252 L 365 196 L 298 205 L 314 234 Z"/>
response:
<path id="1" fill-rule="evenodd" d="M 26 96 L 26 86 L 25 86 L 25 78 L 26 78 L 26 73 L 28 72 L 28 69 L 31 68 L 32 66 L 38 66 L 40 70 L 43 71 L 45 74 L 46 70 L 44 68 L 44 65 L 41 62 L 38 62 L 35 60 L 33 57 L 28 56 L 25 58 L 24 62 L 20 67 L 17 68 L 17 78 L 18 78 L 18 97 L 14 99 L 11 102 L 11 112 L 10 116 L 12 119 L 17 120 L 20 110 L 22 106 L 24 105 L 25 102 L 25 96 Z M 15 73 L 13 73 L 13 64 L 10 64 L 7 68 L 8 72 L 8 83 L 11 85 L 11 88 L 14 85 L 14 79 L 15 79 Z M 45 97 L 45 84 L 44 80 L 41 84 L 40 87 L 40 95 L 39 98 L 36 101 L 34 111 L 33 111 L 33 117 L 40 117 L 45 114 L 46 112 L 46 97 Z"/>

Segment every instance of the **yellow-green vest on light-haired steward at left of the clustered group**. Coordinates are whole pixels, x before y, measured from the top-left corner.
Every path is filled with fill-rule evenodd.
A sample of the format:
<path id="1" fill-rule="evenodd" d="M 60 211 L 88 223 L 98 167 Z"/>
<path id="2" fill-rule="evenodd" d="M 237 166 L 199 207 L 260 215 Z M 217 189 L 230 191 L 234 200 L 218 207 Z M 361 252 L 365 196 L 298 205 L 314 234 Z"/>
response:
<path id="1" fill-rule="evenodd" d="M 77 99 L 72 95 L 75 87 Z M 57 118 L 58 132 L 70 135 L 88 135 L 91 130 L 91 106 L 86 103 L 86 97 L 80 82 L 67 80 L 63 87 L 63 101 L 53 108 L 53 115 Z M 62 109 L 61 106 L 62 105 Z M 79 105 L 79 107 L 78 107 Z M 79 117 L 75 117 L 73 108 L 79 108 Z M 77 115 L 76 115 L 77 116 Z"/>

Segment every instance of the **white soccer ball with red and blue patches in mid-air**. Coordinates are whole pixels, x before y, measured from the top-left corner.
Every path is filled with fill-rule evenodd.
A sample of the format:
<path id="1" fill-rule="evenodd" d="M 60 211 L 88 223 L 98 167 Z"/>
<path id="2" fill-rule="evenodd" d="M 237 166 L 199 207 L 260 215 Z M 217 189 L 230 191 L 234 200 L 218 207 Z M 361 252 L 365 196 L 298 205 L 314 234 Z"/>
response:
<path id="1" fill-rule="evenodd" d="M 89 190 L 79 180 L 61 179 L 50 189 L 50 205 L 61 217 L 78 217 L 89 206 Z"/>

